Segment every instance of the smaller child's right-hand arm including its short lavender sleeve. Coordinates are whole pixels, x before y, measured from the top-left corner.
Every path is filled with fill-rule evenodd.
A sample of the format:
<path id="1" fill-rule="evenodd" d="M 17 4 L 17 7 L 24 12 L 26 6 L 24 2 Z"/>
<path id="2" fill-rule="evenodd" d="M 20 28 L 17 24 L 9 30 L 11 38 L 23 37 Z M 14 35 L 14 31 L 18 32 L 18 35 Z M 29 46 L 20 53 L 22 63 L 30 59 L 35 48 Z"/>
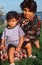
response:
<path id="1" fill-rule="evenodd" d="M 23 41 L 24 41 L 24 35 L 25 35 L 25 33 L 23 32 L 23 30 L 21 29 L 21 27 L 19 26 L 19 29 L 18 29 L 19 31 L 18 31 L 18 33 L 19 33 L 19 44 L 18 44 L 18 47 L 17 47 L 17 49 L 16 50 L 20 50 L 21 49 L 21 47 L 22 47 L 22 44 L 23 44 Z"/>

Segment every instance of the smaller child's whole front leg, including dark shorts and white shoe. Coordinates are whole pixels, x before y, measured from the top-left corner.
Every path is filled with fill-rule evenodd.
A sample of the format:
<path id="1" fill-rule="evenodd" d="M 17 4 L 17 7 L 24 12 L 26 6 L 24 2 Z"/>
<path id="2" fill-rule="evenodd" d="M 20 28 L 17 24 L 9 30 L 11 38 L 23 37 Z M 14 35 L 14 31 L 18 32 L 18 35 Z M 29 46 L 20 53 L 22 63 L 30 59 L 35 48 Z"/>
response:
<path id="1" fill-rule="evenodd" d="M 15 48 L 16 47 L 13 44 L 8 45 L 8 57 L 9 57 L 10 65 L 15 65 L 14 63 Z"/>

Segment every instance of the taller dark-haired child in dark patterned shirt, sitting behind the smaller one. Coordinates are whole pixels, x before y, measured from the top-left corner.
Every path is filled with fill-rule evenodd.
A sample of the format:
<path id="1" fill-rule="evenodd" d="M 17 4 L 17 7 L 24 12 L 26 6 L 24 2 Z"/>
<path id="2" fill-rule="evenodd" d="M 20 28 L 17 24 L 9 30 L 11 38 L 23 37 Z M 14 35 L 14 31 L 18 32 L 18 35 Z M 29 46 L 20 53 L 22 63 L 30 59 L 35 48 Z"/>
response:
<path id="1" fill-rule="evenodd" d="M 34 0 L 24 0 L 20 6 L 23 11 L 20 25 L 25 32 L 25 48 L 27 49 L 28 56 L 35 58 L 36 56 L 32 56 L 31 44 L 34 43 L 38 49 L 40 48 L 39 36 L 41 26 L 38 16 L 35 15 L 37 4 Z"/>

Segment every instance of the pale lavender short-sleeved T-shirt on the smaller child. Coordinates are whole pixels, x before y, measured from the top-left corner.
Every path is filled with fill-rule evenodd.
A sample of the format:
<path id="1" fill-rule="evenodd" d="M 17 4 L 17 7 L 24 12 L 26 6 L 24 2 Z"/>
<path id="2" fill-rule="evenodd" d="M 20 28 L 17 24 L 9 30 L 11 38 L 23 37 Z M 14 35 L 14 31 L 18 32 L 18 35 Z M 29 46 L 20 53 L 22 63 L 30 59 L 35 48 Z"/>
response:
<path id="1" fill-rule="evenodd" d="M 5 46 L 13 44 L 16 47 L 18 46 L 20 36 L 24 36 L 24 32 L 19 25 L 14 28 L 5 28 L 2 34 L 1 39 L 5 40 Z"/>

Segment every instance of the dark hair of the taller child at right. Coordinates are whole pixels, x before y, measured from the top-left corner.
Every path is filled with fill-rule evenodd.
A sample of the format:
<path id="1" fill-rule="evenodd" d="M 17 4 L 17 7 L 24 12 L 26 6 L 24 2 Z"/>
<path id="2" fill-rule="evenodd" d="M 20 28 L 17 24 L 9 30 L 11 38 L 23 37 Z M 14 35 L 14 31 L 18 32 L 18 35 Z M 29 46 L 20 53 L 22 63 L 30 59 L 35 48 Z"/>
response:
<path id="1" fill-rule="evenodd" d="M 32 12 L 36 12 L 37 10 L 37 3 L 34 0 L 24 0 L 21 4 L 20 7 L 22 10 L 24 10 L 24 8 L 29 8 L 30 11 Z"/>

